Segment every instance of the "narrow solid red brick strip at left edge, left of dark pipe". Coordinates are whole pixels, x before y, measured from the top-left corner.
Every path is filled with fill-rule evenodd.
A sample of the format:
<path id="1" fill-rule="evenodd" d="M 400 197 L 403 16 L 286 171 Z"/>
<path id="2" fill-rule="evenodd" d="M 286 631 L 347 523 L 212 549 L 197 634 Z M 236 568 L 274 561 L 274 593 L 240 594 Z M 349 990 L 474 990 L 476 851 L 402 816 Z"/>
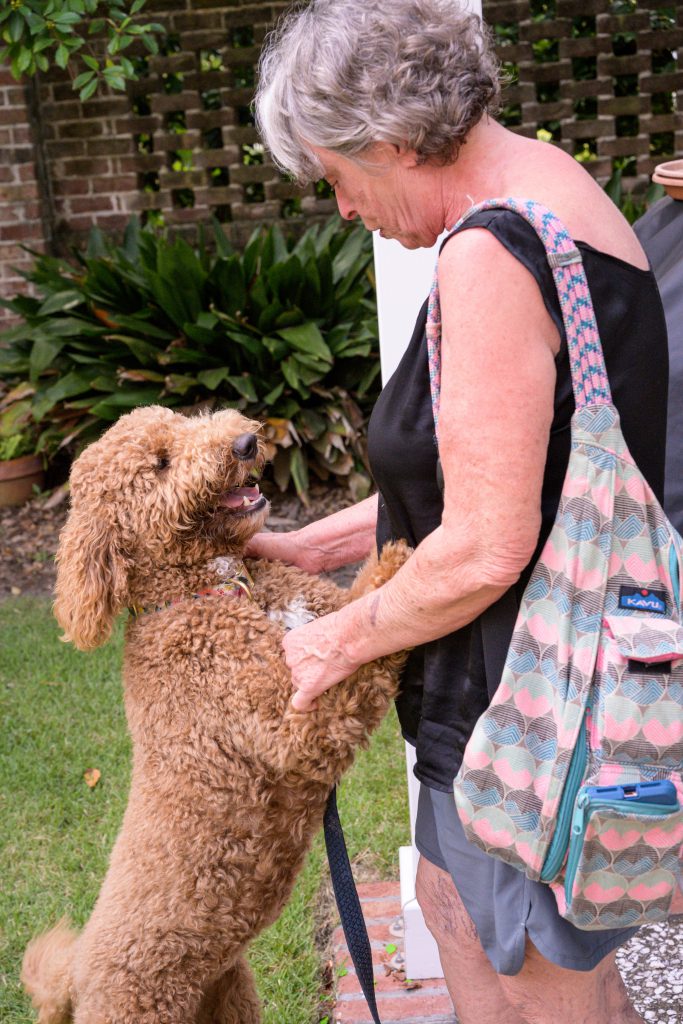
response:
<path id="1" fill-rule="evenodd" d="M 30 128 L 28 93 L 0 68 L 0 296 L 26 291 L 17 273 L 31 256 L 20 247 L 42 249 L 43 225 L 36 180 L 36 154 Z M 0 308 L 0 324 L 10 314 Z"/>

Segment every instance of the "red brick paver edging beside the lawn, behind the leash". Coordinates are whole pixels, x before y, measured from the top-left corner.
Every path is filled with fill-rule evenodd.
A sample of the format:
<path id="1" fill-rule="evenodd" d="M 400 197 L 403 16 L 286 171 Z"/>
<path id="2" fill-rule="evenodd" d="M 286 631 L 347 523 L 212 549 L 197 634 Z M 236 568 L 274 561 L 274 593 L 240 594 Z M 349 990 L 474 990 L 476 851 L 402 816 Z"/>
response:
<path id="1" fill-rule="evenodd" d="M 373 949 L 375 992 L 382 1024 L 457 1024 L 442 978 L 405 980 L 402 921 L 397 882 L 358 886 Z M 334 937 L 337 1005 L 334 1024 L 373 1024 L 341 927 Z M 395 947 L 395 950 L 394 948 Z M 412 987 L 415 986 L 415 987 Z"/>

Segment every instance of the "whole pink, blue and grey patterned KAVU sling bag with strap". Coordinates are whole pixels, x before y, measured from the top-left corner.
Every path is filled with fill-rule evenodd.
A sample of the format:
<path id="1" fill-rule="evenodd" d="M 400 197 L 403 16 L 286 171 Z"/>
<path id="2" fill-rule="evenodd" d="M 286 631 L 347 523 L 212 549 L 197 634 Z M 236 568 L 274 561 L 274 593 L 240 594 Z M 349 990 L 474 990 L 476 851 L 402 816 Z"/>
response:
<path id="1" fill-rule="evenodd" d="M 683 544 L 622 435 L 572 239 L 525 200 L 466 217 L 493 208 L 524 217 L 546 247 L 575 412 L 555 523 L 455 781 L 458 813 L 470 842 L 549 883 L 578 928 L 649 924 L 668 915 L 683 843 Z M 439 342 L 435 281 L 437 437 Z"/>

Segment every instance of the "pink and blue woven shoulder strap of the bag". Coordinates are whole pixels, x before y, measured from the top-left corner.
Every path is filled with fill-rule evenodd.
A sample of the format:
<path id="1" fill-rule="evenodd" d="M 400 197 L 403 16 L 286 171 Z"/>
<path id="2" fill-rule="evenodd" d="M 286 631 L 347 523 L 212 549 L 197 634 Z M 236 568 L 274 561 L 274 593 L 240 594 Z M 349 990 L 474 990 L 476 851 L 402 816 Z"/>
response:
<path id="1" fill-rule="evenodd" d="M 571 386 L 577 409 L 611 403 L 611 393 L 605 370 L 602 345 L 595 322 L 593 301 L 589 291 L 581 253 L 573 239 L 558 217 L 541 203 L 524 199 L 489 199 L 473 206 L 456 226 L 481 210 L 511 210 L 528 221 L 546 247 L 562 310 L 569 351 Z M 427 352 L 429 383 L 438 438 L 438 411 L 441 393 L 441 309 L 438 295 L 438 273 L 427 306 Z"/>

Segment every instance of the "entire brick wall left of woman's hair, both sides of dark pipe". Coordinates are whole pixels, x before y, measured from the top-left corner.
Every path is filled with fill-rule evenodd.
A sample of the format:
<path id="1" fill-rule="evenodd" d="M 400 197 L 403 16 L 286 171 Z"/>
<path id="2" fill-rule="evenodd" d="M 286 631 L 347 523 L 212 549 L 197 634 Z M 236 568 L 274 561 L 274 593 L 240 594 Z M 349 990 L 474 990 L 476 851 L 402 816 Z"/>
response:
<path id="1" fill-rule="evenodd" d="M 167 36 L 139 81 L 127 93 L 81 103 L 68 74 L 54 68 L 29 90 L 33 123 L 27 87 L 0 69 L 3 296 L 26 287 L 11 269 L 31 263 L 19 243 L 66 254 L 93 225 L 119 232 L 132 213 L 190 236 L 215 215 L 239 245 L 260 221 L 303 224 L 334 209 L 334 199 L 312 187 L 301 196 L 267 159 L 248 152 L 258 142 L 249 105 L 260 44 L 286 6 L 286 0 L 150 0 L 144 16 L 160 22 Z M 0 310 L 0 325 L 6 324 Z"/>

